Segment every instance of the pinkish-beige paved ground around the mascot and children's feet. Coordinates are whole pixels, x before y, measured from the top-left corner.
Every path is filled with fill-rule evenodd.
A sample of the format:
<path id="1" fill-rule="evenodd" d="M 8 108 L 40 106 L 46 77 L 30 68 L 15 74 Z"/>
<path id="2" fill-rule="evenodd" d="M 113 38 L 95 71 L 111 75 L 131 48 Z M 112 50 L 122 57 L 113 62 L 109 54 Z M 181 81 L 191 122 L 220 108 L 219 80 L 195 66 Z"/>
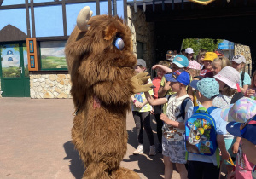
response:
<path id="1" fill-rule="evenodd" d="M 70 130 L 73 126 L 72 100 L 0 99 L 0 178 L 81 178 L 84 166 L 73 149 Z M 155 131 L 155 124 L 152 124 Z M 136 171 L 141 178 L 163 178 L 161 154 L 135 156 L 135 124 L 127 116 L 128 150 L 122 166 Z M 154 141 L 157 143 L 154 132 Z M 176 171 L 172 178 L 179 178 Z"/>

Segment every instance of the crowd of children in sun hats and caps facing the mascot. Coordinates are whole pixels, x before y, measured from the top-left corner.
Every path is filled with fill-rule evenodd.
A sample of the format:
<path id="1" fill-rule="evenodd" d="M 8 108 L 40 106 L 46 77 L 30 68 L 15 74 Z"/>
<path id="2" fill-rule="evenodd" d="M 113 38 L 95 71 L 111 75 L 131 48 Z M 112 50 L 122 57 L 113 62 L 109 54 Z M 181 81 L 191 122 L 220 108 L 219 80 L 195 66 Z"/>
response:
<path id="1" fill-rule="evenodd" d="M 131 95 L 138 141 L 134 154 L 143 153 L 144 128 L 149 155 L 163 154 L 166 179 L 172 178 L 173 164 L 180 178 L 218 179 L 225 165 L 227 178 L 256 179 L 256 72 L 251 79 L 242 72 L 245 64 L 244 56 L 230 61 L 218 50 L 201 49 L 196 60 L 192 48 L 183 55 L 168 50 L 166 61 L 152 67 L 154 90 Z M 135 71 L 146 69 L 138 59 Z M 157 148 L 150 111 L 157 123 Z"/>

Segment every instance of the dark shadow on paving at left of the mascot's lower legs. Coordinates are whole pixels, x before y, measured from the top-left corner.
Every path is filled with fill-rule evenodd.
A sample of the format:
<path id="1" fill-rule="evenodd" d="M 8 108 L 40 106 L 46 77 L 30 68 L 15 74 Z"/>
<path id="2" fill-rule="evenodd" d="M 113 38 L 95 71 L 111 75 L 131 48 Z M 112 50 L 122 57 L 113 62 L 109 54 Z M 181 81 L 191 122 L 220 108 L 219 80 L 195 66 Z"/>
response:
<path id="1" fill-rule="evenodd" d="M 69 170 L 76 179 L 82 178 L 84 174 L 84 163 L 79 158 L 79 153 L 75 150 L 71 141 L 67 141 L 63 145 L 67 156 L 64 159 L 70 160 Z"/>

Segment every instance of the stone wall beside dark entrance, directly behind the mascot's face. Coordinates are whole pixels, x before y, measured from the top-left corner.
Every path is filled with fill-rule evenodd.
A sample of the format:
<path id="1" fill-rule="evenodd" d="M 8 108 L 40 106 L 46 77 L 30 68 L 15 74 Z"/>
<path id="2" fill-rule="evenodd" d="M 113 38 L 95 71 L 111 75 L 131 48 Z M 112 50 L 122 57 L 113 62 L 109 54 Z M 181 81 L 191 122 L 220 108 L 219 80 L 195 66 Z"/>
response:
<path id="1" fill-rule="evenodd" d="M 155 59 L 155 39 L 154 23 L 146 22 L 146 14 L 143 10 L 129 6 L 127 7 L 128 26 L 131 29 L 133 52 L 137 54 L 137 41 L 143 43 L 143 59 L 147 61 L 147 67 L 154 64 Z"/>

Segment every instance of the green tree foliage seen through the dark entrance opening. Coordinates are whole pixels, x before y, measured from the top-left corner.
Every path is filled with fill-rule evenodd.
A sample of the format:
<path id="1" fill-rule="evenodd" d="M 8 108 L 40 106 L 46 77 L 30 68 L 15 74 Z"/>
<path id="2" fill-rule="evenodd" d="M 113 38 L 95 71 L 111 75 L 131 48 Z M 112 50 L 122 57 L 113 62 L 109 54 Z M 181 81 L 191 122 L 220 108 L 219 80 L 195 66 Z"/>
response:
<path id="1" fill-rule="evenodd" d="M 218 43 L 221 43 L 222 41 L 222 39 L 212 38 L 185 38 L 183 39 L 183 49 L 190 47 L 194 49 L 195 55 L 198 54 L 200 49 L 206 49 L 209 52 L 213 52 L 215 49 L 218 49 Z"/>

